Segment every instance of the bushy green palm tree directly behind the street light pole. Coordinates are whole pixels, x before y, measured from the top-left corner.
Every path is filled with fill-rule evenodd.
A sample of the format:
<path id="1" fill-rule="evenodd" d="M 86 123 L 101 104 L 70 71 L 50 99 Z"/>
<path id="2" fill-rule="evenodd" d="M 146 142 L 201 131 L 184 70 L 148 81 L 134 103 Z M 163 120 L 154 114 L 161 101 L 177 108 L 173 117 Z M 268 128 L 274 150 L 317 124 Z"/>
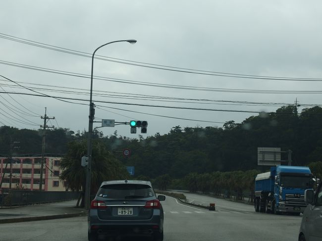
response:
<path id="1" fill-rule="evenodd" d="M 60 161 L 62 170 L 59 178 L 66 182 L 71 191 L 80 192 L 81 206 L 84 206 L 84 191 L 86 184 L 86 168 L 81 166 L 81 157 L 86 154 L 87 141 L 72 141 L 68 143 L 67 155 Z M 125 167 L 116 160 L 99 139 L 93 141 L 91 170 L 91 194 L 95 194 L 103 181 L 125 179 L 129 177 Z M 77 202 L 77 205 L 79 200 Z"/>

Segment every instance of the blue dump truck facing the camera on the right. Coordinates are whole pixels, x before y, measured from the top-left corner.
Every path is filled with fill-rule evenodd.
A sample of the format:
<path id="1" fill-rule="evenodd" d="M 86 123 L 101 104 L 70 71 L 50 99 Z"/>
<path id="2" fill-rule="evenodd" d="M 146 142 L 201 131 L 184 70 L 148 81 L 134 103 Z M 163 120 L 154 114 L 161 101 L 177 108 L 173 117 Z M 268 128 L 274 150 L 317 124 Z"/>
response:
<path id="1" fill-rule="evenodd" d="M 313 174 L 309 167 L 271 167 L 270 172 L 258 174 L 255 179 L 255 210 L 299 215 L 307 206 L 304 192 L 312 188 Z"/>

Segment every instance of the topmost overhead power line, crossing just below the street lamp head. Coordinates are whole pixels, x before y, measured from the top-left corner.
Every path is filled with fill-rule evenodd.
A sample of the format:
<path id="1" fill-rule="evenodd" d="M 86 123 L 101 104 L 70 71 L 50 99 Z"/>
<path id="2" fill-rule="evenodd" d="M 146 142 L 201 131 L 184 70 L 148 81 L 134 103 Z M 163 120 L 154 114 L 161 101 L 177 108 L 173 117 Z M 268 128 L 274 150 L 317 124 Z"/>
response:
<path id="1" fill-rule="evenodd" d="M 11 35 L 0 33 L 0 38 L 15 41 L 22 44 L 32 45 L 35 47 L 40 48 L 47 48 L 54 51 L 74 54 L 83 57 L 92 57 L 92 53 L 87 53 L 83 51 L 73 50 L 69 48 L 61 48 L 54 45 L 48 45 L 32 40 L 27 40 L 23 38 L 14 37 Z M 96 55 L 96 59 L 111 61 L 121 64 L 128 64 L 138 67 L 145 67 L 145 68 L 153 68 L 159 70 L 166 70 L 166 71 L 175 71 L 175 72 L 182 72 L 182 73 L 189 73 L 189 74 L 201 74 L 201 75 L 211 75 L 211 76 L 221 76 L 221 77 L 232 77 L 232 78 L 247 78 L 247 79 L 263 79 L 263 80 L 287 80 L 287 81 L 322 81 L 322 78 L 298 78 L 298 77 L 276 77 L 276 76 L 263 76 L 263 75 L 249 75 L 249 74 L 237 74 L 237 73 L 228 73 L 228 72 L 218 72 L 218 71 L 208 71 L 208 70 L 199 70 L 199 69 L 192 69 L 192 68 L 182 68 L 170 65 L 161 65 L 161 64 L 154 64 L 154 63 L 147 63 L 147 62 L 139 62 L 121 58 L 112 58 L 103 55 Z M 125 61 L 125 62 L 124 62 Z"/>

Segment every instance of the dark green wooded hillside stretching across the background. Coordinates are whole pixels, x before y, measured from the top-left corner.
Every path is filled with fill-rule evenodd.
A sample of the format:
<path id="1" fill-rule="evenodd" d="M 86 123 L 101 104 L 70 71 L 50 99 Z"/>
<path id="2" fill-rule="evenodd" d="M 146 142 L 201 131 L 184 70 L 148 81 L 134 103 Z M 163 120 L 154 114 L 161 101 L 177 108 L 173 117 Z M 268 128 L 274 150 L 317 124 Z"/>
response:
<path id="1" fill-rule="evenodd" d="M 99 174 L 97 180 L 122 178 L 125 175 L 124 167 L 134 166 L 135 176 L 129 178 L 160 180 L 161 176 L 166 177 L 165 180 L 170 180 L 172 186 L 173 184 L 184 186 L 193 180 L 192 177 L 198 177 L 198 191 L 206 192 L 211 187 L 213 193 L 218 193 L 220 186 L 221 192 L 222 190 L 238 192 L 238 188 L 233 186 L 236 183 L 243 183 L 240 189 L 249 189 L 245 180 L 251 176 L 250 170 L 266 171 L 265 167 L 257 165 L 257 147 L 280 147 L 284 151 L 290 149 L 293 152 L 293 165 L 310 164 L 313 173 L 321 175 L 319 164 L 322 160 L 321 116 L 322 108 L 319 106 L 305 108 L 298 113 L 296 106 L 288 105 L 272 113 L 251 116 L 241 123 L 228 121 L 222 128 L 174 126 L 164 135 L 157 133 L 146 138 L 139 136 L 138 139 L 133 139 L 120 136 L 116 130 L 113 135 L 103 136 L 102 132 L 95 130 L 93 148 L 98 148 L 97 155 L 102 154 L 102 158 L 105 156 L 108 165 L 110 163 L 115 165 L 115 169 L 110 169 L 112 172 L 102 168 L 108 175 Z M 12 152 L 10 143 L 15 141 L 20 142 L 20 148 L 14 149 L 17 155 L 41 153 L 42 135 L 41 129 L 20 130 L 8 126 L 0 127 L 0 154 Z M 78 159 L 80 153 L 86 154 L 86 139 L 85 131 L 74 133 L 66 128 L 48 130 L 46 152 L 63 154 L 64 160 L 74 162 L 73 165 L 76 167 L 80 163 Z M 124 148 L 131 150 L 130 157 L 124 157 L 118 152 Z M 286 158 L 287 156 L 282 155 L 282 159 Z M 118 168 L 122 169 L 121 175 L 118 175 L 120 172 Z M 71 173 L 84 171 L 78 168 L 73 170 Z M 211 181 L 200 181 L 207 179 Z M 224 184 L 223 180 L 229 181 Z M 73 182 L 82 183 L 82 180 Z M 165 182 L 165 186 L 168 186 L 168 183 L 169 181 Z M 215 189 L 214 185 L 219 185 L 218 189 Z M 70 187 L 76 189 L 72 184 Z M 193 186 L 188 188 L 194 190 Z"/>

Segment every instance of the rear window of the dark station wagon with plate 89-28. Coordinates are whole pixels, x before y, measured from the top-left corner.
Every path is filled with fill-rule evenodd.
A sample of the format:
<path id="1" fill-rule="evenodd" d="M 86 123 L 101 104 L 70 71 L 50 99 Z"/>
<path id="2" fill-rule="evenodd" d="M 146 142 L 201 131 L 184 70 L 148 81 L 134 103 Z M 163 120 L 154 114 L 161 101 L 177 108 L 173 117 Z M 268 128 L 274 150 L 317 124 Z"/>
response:
<path id="1" fill-rule="evenodd" d="M 102 186 L 98 196 L 108 199 L 132 199 L 154 196 L 153 189 L 142 184 L 112 184 Z"/>

